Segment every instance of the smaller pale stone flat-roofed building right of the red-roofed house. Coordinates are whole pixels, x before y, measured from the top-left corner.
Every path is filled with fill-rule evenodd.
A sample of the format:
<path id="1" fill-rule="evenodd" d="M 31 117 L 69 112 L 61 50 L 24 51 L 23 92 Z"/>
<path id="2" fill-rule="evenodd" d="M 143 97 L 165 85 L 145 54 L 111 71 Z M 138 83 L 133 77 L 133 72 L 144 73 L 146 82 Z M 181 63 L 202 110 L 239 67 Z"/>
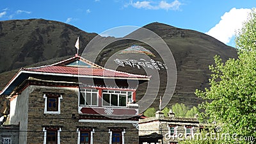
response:
<path id="1" fill-rule="evenodd" d="M 175 117 L 172 111 L 166 117 L 164 113 L 157 111 L 155 117 L 140 119 L 139 129 L 141 144 L 157 143 L 157 141 L 161 144 L 176 144 L 179 140 L 193 138 L 199 131 L 200 125 L 197 118 Z M 154 136 L 151 136 L 152 134 Z M 150 139 L 145 136 L 150 136 Z"/>

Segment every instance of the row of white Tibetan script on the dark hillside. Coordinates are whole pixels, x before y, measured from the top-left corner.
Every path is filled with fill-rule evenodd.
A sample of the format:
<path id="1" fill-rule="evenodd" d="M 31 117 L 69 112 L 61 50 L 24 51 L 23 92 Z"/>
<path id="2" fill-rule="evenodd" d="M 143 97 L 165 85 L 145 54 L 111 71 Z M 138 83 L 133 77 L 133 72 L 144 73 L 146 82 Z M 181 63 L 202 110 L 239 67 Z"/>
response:
<path id="1" fill-rule="evenodd" d="M 125 67 L 125 65 L 127 65 L 129 67 L 134 67 L 134 68 L 138 68 L 138 69 L 140 69 L 141 67 L 151 68 L 152 70 L 167 69 L 165 63 L 162 63 L 161 61 L 155 61 L 152 59 L 150 61 L 146 61 L 142 58 L 140 60 L 132 60 L 132 59 L 120 60 L 120 59 L 116 58 L 114 61 L 116 62 L 116 64 L 118 64 L 122 67 Z"/>

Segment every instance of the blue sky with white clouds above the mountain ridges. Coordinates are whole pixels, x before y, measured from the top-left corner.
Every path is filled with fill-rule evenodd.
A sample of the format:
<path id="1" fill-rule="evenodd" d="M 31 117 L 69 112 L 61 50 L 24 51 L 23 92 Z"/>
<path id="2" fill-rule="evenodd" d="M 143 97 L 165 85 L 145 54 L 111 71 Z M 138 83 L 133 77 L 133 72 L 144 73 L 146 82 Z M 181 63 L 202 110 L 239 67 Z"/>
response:
<path id="1" fill-rule="evenodd" d="M 57 20 L 94 33 L 162 22 L 207 33 L 234 46 L 234 31 L 255 7 L 255 0 L 2 0 L 0 20 Z"/>

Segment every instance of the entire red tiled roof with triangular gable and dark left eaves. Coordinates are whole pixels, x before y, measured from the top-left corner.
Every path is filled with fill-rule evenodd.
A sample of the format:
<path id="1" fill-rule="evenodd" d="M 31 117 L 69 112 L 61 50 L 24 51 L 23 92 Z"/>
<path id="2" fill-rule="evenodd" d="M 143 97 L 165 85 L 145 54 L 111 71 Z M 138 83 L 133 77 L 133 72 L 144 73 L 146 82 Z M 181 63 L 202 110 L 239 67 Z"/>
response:
<path id="1" fill-rule="evenodd" d="M 74 61 L 82 61 L 83 65 L 68 65 L 74 63 Z M 138 74 L 129 74 L 127 72 L 120 72 L 116 70 L 110 70 L 108 68 L 101 67 L 91 61 L 88 61 L 81 56 L 74 56 L 67 60 L 53 63 L 52 65 L 45 65 L 42 67 L 21 68 L 19 72 L 13 76 L 11 81 L 0 92 L 0 95 L 10 95 L 14 88 L 19 86 L 22 81 L 28 79 L 30 74 L 43 74 L 43 75 L 55 75 L 55 76 L 72 76 L 72 77 L 99 77 L 99 78 L 111 78 L 111 79 L 138 79 L 148 81 L 150 76 L 143 76 Z"/>

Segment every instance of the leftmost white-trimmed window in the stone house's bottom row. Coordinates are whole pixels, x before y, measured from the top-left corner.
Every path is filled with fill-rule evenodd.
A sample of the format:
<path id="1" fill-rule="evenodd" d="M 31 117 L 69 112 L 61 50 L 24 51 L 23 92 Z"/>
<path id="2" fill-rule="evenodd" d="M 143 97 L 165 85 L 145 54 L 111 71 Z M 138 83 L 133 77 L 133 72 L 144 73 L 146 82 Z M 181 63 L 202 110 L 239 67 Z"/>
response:
<path id="1" fill-rule="evenodd" d="M 60 144 L 61 128 L 44 127 L 44 144 Z"/>

